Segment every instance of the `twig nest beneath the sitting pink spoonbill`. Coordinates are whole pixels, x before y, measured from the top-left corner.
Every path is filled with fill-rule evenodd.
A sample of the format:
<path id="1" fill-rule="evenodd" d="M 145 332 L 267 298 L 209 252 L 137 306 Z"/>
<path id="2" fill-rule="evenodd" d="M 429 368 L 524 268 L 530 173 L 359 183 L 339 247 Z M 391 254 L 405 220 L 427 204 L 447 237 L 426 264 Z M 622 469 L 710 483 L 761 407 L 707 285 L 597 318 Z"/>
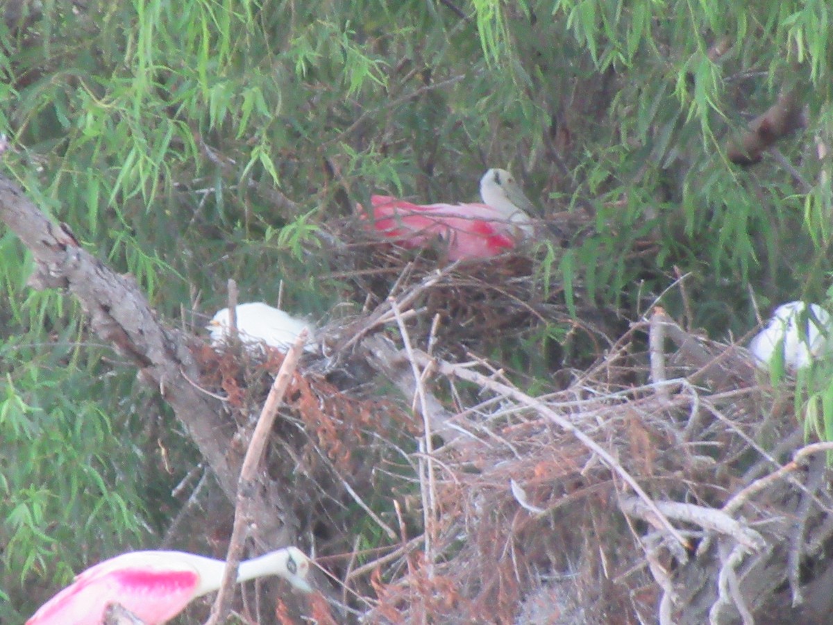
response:
<path id="1" fill-rule="evenodd" d="M 528 336 L 531 329 L 540 330 L 542 337 L 547 328 L 570 328 L 566 339 L 553 343 L 559 348 L 601 353 L 621 333 L 621 319 L 583 306 L 580 295 L 577 314 L 571 314 L 564 288 L 551 279 L 560 246 L 586 236 L 588 220 L 583 213 L 559 213 L 538 223 L 537 228 L 551 235 L 546 244 L 526 243 L 485 262 L 456 263 L 448 260 L 446 243 L 440 239 L 424 248 L 404 249 L 368 232 L 365 222 L 353 220 L 331 233 L 351 243 L 337 246 L 333 264 L 341 269 L 329 277 L 349 281 L 352 290 L 345 297 L 362 305 L 364 313 L 387 298 L 408 293 L 407 308 L 416 313 L 409 319 L 412 337 L 422 344 L 430 342 L 449 358 L 492 353 L 505 348 L 507 340 Z M 581 293 L 579 281 L 572 288 Z"/>

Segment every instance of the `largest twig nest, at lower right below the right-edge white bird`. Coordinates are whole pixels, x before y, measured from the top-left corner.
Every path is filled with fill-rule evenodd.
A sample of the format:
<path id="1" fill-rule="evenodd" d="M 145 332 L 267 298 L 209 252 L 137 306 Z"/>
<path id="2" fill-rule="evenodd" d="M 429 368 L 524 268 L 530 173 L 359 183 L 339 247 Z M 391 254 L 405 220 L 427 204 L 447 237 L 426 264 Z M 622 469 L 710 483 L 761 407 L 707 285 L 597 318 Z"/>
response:
<path id="1" fill-rule="evenodd" d="M 477 400 L 421 465 L 425 532 L 379 620 L 826 622 L 833 446 L 804 444 L 743 350 L 656 313 L 537 397 L 485 361 L 397 358 L 432 374 L 418 397 Z"/>

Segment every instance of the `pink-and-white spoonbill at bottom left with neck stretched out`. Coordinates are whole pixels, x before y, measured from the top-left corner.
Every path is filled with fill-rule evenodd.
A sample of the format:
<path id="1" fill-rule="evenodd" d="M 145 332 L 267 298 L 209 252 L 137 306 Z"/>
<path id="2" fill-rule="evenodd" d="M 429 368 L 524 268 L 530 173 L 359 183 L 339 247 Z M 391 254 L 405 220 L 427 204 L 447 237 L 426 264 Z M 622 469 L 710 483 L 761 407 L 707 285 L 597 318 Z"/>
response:
<path id="1" fill-rule="evenodd" d="M 26 625 L 101 625 L 104 610 L 118 603 L 147 625 L 175 617 L 196 597 L 217 590 L 226 562 L 178 551 L 122 553 L 88 568 L 32 615 Z M 309 559 L 286 547 L 240 562 L 237 582 L 278 575 L 303 592 Z"/>

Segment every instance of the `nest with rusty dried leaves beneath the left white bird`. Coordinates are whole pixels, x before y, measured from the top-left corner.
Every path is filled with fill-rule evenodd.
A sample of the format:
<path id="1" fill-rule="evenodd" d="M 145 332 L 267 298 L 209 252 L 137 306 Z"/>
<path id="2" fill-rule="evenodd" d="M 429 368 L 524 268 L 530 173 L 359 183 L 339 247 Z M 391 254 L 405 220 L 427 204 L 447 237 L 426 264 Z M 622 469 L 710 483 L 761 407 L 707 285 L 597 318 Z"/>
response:
<path id="1" fill-rule="evenodd" d="M 250 443 L 285 358 L 277 349 L 252 351 L 239 342 L 219 351 L 203 346 L 197 354 L 202 385 L 224 399 L 228 422 L 237 432 L 232 444 L 239 445 L 239 453 Z M 387 491 L 386 474 L 374 471 L 383 452 L 403 434 L 413 436 L 419 430 L 412 415 L 397 404 L 343 393 L 336 383 L 315 373 L 320 368 L 320 363 L 307 359 L 292 374 L 272 427 L 266 467 L 284 485 L 292 517 L 305 532 L 316 535 L 318 552 L 327 554 L 351 547 L 345 540 L 374 503 L 368 493 Z"/>

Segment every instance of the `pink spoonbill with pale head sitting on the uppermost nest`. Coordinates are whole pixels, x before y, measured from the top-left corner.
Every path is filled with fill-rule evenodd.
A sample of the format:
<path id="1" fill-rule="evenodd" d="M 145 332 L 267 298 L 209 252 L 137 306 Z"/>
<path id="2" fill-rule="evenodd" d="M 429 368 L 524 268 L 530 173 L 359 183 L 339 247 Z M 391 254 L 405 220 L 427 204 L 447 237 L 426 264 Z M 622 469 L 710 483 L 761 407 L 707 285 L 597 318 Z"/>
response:
<path id="1" fill-rule="evenodd" d="M 374 228 L 405 248 L 418 248 L 435 238 L 446 240 L 452 261 L 495 256 L 531 236 L 527 211 L 535 207 L 511 173 L 490 169 L 481 178 L 480 195 L 483 203 L 468 204 L 412 204 L 374 195 Z"/>

